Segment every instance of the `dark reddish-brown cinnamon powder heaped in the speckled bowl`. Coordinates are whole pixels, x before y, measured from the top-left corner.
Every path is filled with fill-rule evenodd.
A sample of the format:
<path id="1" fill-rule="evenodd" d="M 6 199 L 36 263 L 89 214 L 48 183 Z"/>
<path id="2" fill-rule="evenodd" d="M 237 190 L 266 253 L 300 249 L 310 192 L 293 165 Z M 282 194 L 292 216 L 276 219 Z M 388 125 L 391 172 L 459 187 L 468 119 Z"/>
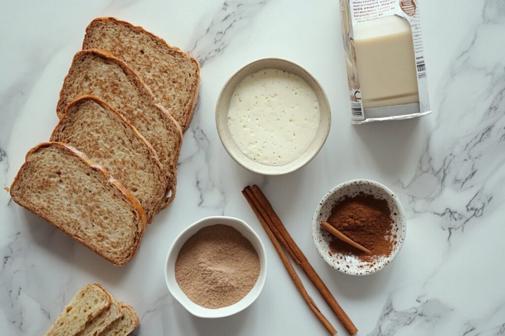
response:
<path id="1" fill-rule="evenodd" d="M 389 255 L 393 249 L 391 211 L 385 199 L 360 193 L 339 200 L 331 211 L 328 222 L 338 231 L 368 248 L 372 254 L 342 242 L 332 236 L 330 251 L 354 254 L 363 261 L 373 262 L 379 255 Z"/>

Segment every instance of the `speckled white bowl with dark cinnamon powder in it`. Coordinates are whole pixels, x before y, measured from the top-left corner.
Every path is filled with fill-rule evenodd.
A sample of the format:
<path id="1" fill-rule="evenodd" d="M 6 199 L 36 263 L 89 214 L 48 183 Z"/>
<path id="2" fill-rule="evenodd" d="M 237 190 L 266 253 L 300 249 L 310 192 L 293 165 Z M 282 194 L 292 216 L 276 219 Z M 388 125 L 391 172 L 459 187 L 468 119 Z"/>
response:
<path id="1" fill-rule="evenodd" d="M 322 222 L 331 227 L 323 228 Z M 382 270 L 400 251 L 405 234 L 405 213 L 398 197 L 372 180 L 351 180 L 331 189 L 319 203 L 312 222 L 319 254 L 333 268 L 350 275 Z"/>

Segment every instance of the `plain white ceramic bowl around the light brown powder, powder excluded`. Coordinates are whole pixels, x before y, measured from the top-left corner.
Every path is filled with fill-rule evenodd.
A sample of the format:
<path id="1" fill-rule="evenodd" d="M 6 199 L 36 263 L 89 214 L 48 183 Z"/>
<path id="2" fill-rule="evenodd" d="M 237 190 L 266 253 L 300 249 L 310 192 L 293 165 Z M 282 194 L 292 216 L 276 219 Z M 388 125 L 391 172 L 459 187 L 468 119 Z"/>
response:
<path id="1" fill-rule="evenodd" d="M 205 308 L 196 303 L 192 302 L 188 299 L 186 294 L 181 290 L 179 285 L 177 284 L 177 280 L 175 280 L 175 261 L 177 260 L 177 256 L 179 255 L 179 251 L 192 235 L 194 235 L 198 230 L 204 228 L 206 226 L 215 225 L 215 224 L 224 224 L 235 228 L 238 232 L 242 234 L 252 246 L 256 249 L 258 256 L 260 257 L 260 276 L 258 277 L 258 281 L 252 290 L 244 296 L 237 303 L 232 304 L 231 306 L 210 309 Z M 172 296 L 179 301 L 179 303 L 186 308 L 191 314 L 198 317 L 206 317 L 206 318 L 216 318 L 216 317 L 225 317 L 229 315 L 233 315 L 238 313 L 239 311 L 247 308 L 252 302 L 254 302 L 261 291 L 263 290 L 263 285 L 265 285 L 265 280 L 267 278 L 267 253 L 265 252 L 265 246 L 261 241 L 260 237 L 256 234 L 252 228 L 247 225 L 244 221 L 226 216 L 213 216 L 201 219 L 189 227 L 187 227 L 184 231 L 182 231 L 177 238 L 175 238 L 174 243 L 170 247 L 168 251 L 167 260 L 165 262 L 165 281 L 167 283 L 168 290 L 172 294 Z"/>

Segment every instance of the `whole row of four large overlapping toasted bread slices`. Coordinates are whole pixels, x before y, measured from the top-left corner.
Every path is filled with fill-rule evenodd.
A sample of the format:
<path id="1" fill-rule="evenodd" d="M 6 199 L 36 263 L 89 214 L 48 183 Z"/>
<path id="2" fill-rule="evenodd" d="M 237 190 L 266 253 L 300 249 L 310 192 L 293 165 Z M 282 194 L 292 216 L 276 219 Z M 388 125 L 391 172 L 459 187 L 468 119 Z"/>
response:
<path id="1" fill-rule="evenodd" d="M 195 58 L 114 18 L 86 29 L 57 104 L 50 142 L 11 186 L 19 205 L 114 264 L 174 199 L 182 130 L 199 85 Z"/>

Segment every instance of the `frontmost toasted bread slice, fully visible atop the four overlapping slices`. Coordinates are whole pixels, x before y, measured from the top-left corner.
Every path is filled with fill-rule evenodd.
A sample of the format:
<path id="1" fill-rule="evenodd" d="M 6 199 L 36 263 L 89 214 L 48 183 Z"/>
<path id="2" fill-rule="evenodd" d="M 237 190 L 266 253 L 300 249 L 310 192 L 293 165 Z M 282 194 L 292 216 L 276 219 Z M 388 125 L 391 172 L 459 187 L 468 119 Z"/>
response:
<path id="1" fill-rule="evenodd" d="M 17 204 L 116 265 L 138 249 L 146 224 L 138 200 L 73 147 L 37 145 L 10 192 Z"/>

